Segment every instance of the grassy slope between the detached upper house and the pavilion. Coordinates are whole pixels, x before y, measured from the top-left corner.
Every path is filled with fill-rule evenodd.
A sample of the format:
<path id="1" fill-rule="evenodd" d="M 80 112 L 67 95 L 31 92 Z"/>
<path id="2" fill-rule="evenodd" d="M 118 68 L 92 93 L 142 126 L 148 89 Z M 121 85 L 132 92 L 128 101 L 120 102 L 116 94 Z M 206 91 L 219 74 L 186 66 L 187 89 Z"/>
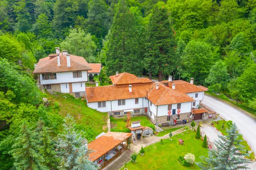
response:
<path id="1" fill-rule="evenodd" d="M 88 141 L 95 139 L 103 131 L 108 131 L 107 113 L 98 112 L 87 107 L 86 101 L 81 101 L 81 99 L 74 98 L 69 94 L 57 92 L 55 94 L 47 94 L 47 98 L 51 105 L 54 105 L 55 102 L 59 103 L 59 115 L 62 118 L 68 113 L 74 117 L 77 128 L 86 132 L 85 137 Z"/>

